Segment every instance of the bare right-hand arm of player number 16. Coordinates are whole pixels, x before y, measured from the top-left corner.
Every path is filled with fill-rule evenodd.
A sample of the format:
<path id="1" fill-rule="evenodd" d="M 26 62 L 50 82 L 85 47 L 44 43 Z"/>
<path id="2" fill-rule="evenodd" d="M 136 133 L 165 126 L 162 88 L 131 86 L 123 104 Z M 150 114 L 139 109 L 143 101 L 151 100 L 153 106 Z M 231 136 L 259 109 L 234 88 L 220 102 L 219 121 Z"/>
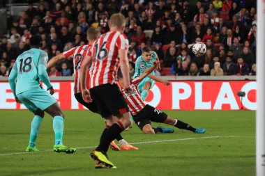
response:
<path id="1" fill-rule="evenodd" d="M 121 73 L 123 74 L 123 88 L 126 93 L 130 93 L 132 88 L 130 86 L 129 61 L 127 58 L 126 49 L 119 49 Z"/>

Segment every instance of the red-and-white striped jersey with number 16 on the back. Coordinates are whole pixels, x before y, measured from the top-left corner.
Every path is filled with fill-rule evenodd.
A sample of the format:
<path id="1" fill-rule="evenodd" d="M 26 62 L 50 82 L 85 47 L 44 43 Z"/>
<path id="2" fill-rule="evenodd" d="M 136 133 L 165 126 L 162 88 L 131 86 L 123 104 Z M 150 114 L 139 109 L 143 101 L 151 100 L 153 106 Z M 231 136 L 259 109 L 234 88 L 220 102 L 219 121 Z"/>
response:
<path id="1" fill-rule="evenodd" d="M 128 50 L 128 39 L 124 33 L 109 31 L 93 42 L 91 53 L 93 68 L 90 70 L 89 88 L 106 83 L 116 83 L 119 69 L 119 49 Z"/>

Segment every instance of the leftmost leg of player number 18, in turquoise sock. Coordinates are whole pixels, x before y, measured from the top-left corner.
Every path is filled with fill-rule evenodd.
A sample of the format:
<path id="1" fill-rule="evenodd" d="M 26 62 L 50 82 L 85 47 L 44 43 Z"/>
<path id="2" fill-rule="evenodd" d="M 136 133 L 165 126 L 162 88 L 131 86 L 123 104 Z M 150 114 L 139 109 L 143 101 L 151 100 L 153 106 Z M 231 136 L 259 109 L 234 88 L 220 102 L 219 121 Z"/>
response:
<path id="1" fill-rule="evenodd" d="M 26 149 L 26 152 L 38 152 L 36 148 L 36 139 L 38 136 L 38 131 L 40 129 L 41 122 L 43 122 L 44 112 L 40 109 L 37 109 L 34 112 L 35 116 L 31 121 L 31 134 L 29 136 L 29 146 Z"/>

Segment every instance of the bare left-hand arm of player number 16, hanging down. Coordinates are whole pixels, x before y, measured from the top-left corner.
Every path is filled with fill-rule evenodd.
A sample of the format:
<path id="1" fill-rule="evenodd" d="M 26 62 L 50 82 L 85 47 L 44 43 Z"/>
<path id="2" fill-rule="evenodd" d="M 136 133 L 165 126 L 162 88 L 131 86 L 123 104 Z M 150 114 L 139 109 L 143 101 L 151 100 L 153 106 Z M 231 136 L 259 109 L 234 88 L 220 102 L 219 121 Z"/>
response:
<path id="1" fill-rule="evenodd" d="M 86 72 L 87 68 L 92 64 L 92 57 L 86 56 L 80 67 L 80 81 L 82 88 L 82 97 L 85 102 L 92 102 L 89 90 L 86 88 Z"/>

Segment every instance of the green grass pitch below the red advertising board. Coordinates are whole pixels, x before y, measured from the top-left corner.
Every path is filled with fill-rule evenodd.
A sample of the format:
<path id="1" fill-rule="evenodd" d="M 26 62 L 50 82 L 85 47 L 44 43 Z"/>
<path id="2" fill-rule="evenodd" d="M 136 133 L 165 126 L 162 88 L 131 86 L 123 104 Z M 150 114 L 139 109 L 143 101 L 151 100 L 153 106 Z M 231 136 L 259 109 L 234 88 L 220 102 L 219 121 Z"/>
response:
<path id="1" fill-rule="evenodd" d="M 174 134 L 146 135 L 134 124 L 122 136 L 131 143 L 143 143 L 135 144 L 138 151 L 109 150 L 116 170 L 96 170 L 89 157 L 98 145 L 103 120 L 89 111 L 64 112 L 63 143 L 80 147 L 75 154 L 52 152 L 54 135 L 48 115 L 37 140 L 38 150 L 43 152 L 24 153 L 33 115 L 0 111 L 0 175 L 255 175 L 254 111 L 166 111 L 194 127 L 206 128 L 206 134 L 175 128 Z"/>

